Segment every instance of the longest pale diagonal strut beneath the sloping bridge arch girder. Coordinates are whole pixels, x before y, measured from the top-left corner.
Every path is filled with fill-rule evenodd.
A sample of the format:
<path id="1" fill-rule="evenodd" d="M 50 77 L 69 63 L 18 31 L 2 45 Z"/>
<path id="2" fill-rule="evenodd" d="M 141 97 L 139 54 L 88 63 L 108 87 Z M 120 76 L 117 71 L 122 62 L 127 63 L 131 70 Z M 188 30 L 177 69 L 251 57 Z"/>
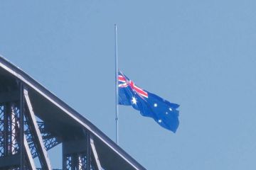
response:
<path id="1" fill-rule="evenodd" d="M 38 124 L 36 123 L 36 117 L 35 114 L 33 112 L 33 107 L 31 105 L 31 101 L 30 98 L 28 96 L 28 90 L 24 89 L 24 96 L 25 96 L 25 101 L 26 104 L 28 106 L 28 118 L 31 120 L 31 129 L 33 131 L 33 135 L 35 137 L 34 141 L 36 143 L 36 145 L 38 146 L 38 152 L 41 152 L 40 157 L 42 159 L 42 168 L 46 169 L 46 170 L 51 170 L 51 166 L 50 166 L 50 159 L 48 158 L 48 154 L 46 152 L 46 148 L 43 145 L 43 138 L 41 136 L 41 132 L 38 128 Z"/>

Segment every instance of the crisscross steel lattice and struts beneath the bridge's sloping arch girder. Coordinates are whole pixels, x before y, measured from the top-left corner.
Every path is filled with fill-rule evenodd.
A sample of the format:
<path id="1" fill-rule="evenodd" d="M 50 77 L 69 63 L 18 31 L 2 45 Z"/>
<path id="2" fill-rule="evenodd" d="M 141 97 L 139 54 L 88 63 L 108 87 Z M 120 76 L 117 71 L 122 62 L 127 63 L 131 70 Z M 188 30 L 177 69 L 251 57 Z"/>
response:
<path id="1" fill-rule="evenodd" d="M 26 87 L 23 88 L 21 83 L 19 86 L 16 98 L 11 101 L 6 98 L 0 103 L 0 170 L 53 169 L 47 151 L 60 143 L 63 144 L 63 170 L 103 169 L 90 132 L 85 130 L 85 139 L 63 142 L 36 117 Z M 85 149 L 79 152 L 65 149 L 77 142 Z M 36 167 L 33 161 L 36 157 L 40 167 Z"/>

